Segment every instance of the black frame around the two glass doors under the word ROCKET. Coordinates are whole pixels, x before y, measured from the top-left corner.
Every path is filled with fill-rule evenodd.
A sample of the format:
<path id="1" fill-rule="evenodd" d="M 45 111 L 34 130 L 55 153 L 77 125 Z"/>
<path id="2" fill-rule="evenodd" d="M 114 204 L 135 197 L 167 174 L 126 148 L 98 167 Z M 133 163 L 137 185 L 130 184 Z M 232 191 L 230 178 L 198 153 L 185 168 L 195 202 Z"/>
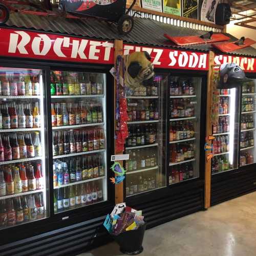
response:
<path id="1" fill-rule="evenodd" d="M 106 97 L 106 181 L 107 181 L 107 193 L 108 200 L 95 205 L 84 206 L 69 210 L 66 212 L 60 212 L 54 214 L 53 206 L 53 169 L 52 169 L 52 127 L 51 127 L 51 94 L 50 94 L 50 70 L 57 69 L 63 71 L 76 71 L 76 72 L 92 72 L 92 73 L 104 73 L 106 74 L 106 86 L 114 84 L 114 79 L 109 73 L 112 68 L 111 65 L 97 65 L 97 64 L 81 64 L 74 62 L 60 62 L 60 61 L 44 61 L 44 60 L 34 60 L 34 59 L 20 59 L 20 58 L 8 58 L 0 57 L 0 65 L 2 67 L 9 68 L 24 68 L 24 69 L 40 69 L 43 72 L 44 77 L 44 91 L 45 91 L 45 120 L 46 120 L 46 138 L 48 141 L 47 154 L 46 154 L 46 173 L 49 179 L 46 177 L 46 182 L 48 184 L 48 195 L 49 195 L 49 217 L 37 220 L 31 223 L 25 223 L 22 225 L 17 225 L 9 227 L 6 229 L 0 229 L 0 254 L 4 252 L 5 245 L 11 245 L 15 241 L 19 240 L 29 240 L 32 237 L 41 235 L 45 232 L 54 231 L 60 228 L 65 228 L 72 226 L 79 222 L 91 221 L 93 219 L 97 220 L 99 217 L 105 217 L 109 212 L 112 211 L 115 205 L 115 187 L 110 183 L 109 177 L 111 163 L 110 156 L 114 153 L 114 87 L 109 86 L 108 90 L 105 90 Z M 68 216 L 68 218 L 67 218 Z M 65 218 L 66 217 L 66 218 Z M 62 219 L 63 218 L 63 219 Z M 101 221 L 103 224 L 103 221 Z M 102 225 L 103 228 L 103 225 Z M 99 232 L 102 233 L 102 230 Z M 104 230 L 103 230 L 104 232 Z M 97 237 L 97 233 L 95 234 Z M 102 241 L 102 244 L 104 242 Z M 12 245 L 11 245 L 12 246 Z M 18 250 L 19 248 L 17 248 Z"/>

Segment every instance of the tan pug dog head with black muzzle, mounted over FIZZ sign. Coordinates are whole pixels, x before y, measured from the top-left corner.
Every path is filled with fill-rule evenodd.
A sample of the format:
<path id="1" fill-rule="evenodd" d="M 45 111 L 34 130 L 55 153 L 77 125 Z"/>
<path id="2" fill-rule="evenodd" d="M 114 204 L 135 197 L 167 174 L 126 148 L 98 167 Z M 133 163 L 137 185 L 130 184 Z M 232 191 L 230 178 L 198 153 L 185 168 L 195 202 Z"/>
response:
<path id="1" fill-rule="evenodd" d="M 124 63 L 126 68 L 124 82 L 127 87 L 135 89 L 142 83 L 153 83 L 154 66 L 148 52 L 133 52 L 124 55 Z"/>

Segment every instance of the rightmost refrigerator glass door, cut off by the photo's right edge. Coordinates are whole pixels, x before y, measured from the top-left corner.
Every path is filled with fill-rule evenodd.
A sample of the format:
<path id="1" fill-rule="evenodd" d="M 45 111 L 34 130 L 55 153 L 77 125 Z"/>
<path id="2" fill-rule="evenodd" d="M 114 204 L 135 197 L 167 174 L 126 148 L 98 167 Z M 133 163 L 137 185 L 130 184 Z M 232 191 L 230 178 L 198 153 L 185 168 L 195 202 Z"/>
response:
<path id="1" fill-rule="evenodd" d="M 255 93 L 256 79 L 243 84 L 242 87 L 242 114 L 240 137 L 240 166 L 255 163 Z"/>

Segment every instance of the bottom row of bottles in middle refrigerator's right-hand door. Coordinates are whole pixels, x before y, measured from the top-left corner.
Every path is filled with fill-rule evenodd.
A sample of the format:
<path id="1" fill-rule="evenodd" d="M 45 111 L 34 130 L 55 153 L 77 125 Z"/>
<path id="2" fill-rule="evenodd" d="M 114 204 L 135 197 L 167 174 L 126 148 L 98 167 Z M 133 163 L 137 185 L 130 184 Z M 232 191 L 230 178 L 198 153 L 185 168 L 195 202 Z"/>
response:
<path id="1" fill-rule="evenodd" d="M 191 163 L 179 164 L 170 168 L 169 172 L 169 185 L 180 181 L 192 179 L 193 165 Z"/>

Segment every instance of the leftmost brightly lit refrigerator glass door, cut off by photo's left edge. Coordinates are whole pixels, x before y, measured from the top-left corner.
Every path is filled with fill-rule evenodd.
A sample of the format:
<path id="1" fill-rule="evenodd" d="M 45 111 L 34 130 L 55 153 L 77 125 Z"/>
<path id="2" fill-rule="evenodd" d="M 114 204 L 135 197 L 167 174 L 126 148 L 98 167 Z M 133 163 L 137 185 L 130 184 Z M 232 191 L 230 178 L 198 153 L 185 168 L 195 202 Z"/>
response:
<path id="1" fill-rule="evenodd" d="M 0 67 L 0 228 L 49 216 L 43 72 Z"/>

